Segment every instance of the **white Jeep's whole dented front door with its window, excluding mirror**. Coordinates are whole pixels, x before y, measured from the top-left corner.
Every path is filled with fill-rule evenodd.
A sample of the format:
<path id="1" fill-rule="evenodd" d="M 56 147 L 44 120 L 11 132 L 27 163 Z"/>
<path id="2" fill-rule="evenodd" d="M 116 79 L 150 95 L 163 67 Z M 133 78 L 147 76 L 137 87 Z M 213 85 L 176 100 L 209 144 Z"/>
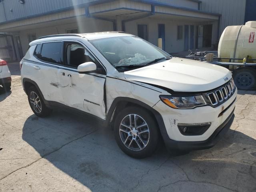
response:
<path id="1" fill-rule="evenodd" d="M 58 70 L 58 77 L 64 104 L 105 119 L 106 70 L 80 42 L 64 41 L 63 53 L 64 68 Z M 77 67 L 84 62 L 94 62 L 97 71 L 79 74 Z"/>

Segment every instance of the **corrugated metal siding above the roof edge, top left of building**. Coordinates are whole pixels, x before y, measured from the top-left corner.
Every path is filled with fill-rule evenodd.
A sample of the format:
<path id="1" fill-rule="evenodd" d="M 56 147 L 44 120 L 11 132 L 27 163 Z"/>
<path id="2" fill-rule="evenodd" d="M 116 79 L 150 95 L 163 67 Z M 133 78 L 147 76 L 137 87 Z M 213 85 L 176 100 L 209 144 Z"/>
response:
<path id="1" fill-rule="evenodd" d="M 94 1 L 97 0 L 26 0 L 24 4 L 20 4 L 18 0 L 4 0 L 0 3 L 0 22 L 6 21 L 2 11 L 2 3 L 4 3 L 8 21 Z"/>

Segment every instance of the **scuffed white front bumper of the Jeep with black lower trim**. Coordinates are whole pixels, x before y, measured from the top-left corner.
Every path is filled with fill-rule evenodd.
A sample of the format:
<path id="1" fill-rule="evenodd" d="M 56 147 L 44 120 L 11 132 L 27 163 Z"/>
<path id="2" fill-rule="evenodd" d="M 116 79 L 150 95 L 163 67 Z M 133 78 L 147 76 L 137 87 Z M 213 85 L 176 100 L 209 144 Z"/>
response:
<path id="1" fill-rule="evenodd" d="M 160 120 L 157 119 L 166 147 L 170 150 L 200 150 L 214 146 L 234 120 L 236 94 L 237 90 L 226 102 L 215 108 L 202 106 L 194 109 L 173 109 L 159 101 L 153 109 L 161 116 Z M 189 124 L 193 125 L 193 130 L 196 130 L 196 125 L 200 125 L 198 129 L 202 131 L 182 133 L 184 125 Z M 189 130 L 189 126 L 187 128 Z"/>

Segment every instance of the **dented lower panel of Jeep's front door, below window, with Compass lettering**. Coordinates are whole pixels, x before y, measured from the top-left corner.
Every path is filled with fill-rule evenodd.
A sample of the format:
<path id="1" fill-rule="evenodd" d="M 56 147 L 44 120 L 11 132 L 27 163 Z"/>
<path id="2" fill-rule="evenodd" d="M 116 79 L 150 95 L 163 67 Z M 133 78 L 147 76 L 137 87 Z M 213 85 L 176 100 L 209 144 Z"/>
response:
<path id="1" fill-rule="evenodd" d="M 79 74 L 76 71 L 61 69 L 58 77 L 63 104 L 106 119 L 103 99 L 106 80 L 104 75 Z"/>

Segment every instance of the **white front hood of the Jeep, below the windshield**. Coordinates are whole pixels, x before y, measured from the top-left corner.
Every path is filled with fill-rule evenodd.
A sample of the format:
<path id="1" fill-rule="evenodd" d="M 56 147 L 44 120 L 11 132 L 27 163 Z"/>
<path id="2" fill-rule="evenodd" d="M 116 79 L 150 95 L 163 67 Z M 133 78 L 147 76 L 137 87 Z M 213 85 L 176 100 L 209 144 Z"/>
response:
<path id="1" fill-rule="evenodd" d="M 203 92 L 225 84 L 232 73 L 205 62 L 172 58 L 143 68 L 124 72 L 126 79 L 169 88 L 177 92 Z M 228 77 L 228 80 L 224 78 Z"/>

